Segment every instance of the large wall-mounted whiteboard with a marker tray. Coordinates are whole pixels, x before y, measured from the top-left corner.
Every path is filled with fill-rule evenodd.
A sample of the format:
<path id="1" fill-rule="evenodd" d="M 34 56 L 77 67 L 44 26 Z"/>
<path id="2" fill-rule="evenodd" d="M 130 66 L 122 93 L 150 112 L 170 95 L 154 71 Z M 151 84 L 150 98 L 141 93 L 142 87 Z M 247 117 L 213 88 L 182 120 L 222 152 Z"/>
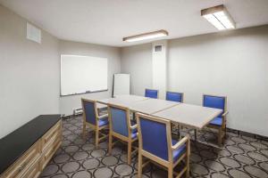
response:
<path id="1" fill-rule="evenodd" d="M 107 59 L 61 55 L 61 95 L 105 91 L 107 87 Z"/>

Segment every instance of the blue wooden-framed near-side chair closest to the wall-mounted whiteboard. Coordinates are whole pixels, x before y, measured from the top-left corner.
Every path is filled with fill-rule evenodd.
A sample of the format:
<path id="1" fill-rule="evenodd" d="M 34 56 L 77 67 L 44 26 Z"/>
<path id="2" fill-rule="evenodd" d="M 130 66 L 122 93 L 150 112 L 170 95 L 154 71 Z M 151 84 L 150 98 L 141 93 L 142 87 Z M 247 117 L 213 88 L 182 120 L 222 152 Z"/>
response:
<path id="1" fill-rule="evenodd" d="M 98 143 L 105 140 L 108 135 L 102 133 L 101 131 L 105 128 L 109 128 L 109 120 L 108 114 L 99 116 L 96 109 L 96 101 L 91 101 L 87 99 L 81 99 L 82 108 L 83 108 L 83 138 L 86 138 L 86 127 L 87 125 L 94 129 L 96 132 L 96 147 L 98 147 Z M 102 137 L 99 138 L 99 134 Z"/>

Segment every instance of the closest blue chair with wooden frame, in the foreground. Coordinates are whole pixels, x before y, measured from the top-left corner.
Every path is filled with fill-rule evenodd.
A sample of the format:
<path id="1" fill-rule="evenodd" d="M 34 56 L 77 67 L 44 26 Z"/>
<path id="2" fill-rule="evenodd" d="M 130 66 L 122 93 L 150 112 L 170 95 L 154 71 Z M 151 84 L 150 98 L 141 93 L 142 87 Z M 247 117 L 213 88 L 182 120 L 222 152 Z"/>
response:
<path id="1" fill-rule="evenodd" d="M 172 140 L 171 122 L 159 117 L 137 114 L 138 122 L 138 177 L 141 177 L 143 157 L 151 159 L 157 164 L 168 169 L 168 178 L 173 174 L 180 177 L 182 174 L 189 175 L 189 136 L 185 136 L 179 142 Z M 175 173 L 173 168 L 181 161 L 183 167 L 180 173 Z"/>

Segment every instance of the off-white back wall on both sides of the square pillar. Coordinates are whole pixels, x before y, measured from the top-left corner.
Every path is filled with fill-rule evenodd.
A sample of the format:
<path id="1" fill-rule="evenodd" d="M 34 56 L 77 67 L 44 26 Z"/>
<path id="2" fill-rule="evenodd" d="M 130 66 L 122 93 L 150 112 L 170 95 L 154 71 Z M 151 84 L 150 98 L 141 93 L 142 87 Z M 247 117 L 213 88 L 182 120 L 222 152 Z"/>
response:
<path id="1" fill-rule="evenodd" d="M 121 70 L 134 74 L 132 93 L 150 84 L 147 46 L 123 48 Z M 268 136 L 268 26 L 174 39 L 168 46 L 168 90 L 184 92 L 193 104 L 201 104 L 203 93 L 226 95 L 228 127 Z"/>

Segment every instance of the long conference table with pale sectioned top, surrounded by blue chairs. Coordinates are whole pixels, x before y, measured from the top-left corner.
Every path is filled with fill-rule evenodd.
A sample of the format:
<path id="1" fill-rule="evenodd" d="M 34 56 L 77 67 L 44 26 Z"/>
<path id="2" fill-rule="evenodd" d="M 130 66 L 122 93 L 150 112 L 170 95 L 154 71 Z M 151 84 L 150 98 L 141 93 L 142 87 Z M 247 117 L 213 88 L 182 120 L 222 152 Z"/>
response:
<path id="1" fill-rule="evenodd" d="M 102 104 L 102 107 L 108 104 L 120 105 L 129 108 L 132 112 L 141 112 L 155 117 L 161 117 L 180 126 L 188 126 L 194 129 L 202 129 L 214 117 L 222 113 L 222 109 L 152 99 L 138 95 L 117 95 L 114 98 L 97 100 L 97 102 Z"/>

